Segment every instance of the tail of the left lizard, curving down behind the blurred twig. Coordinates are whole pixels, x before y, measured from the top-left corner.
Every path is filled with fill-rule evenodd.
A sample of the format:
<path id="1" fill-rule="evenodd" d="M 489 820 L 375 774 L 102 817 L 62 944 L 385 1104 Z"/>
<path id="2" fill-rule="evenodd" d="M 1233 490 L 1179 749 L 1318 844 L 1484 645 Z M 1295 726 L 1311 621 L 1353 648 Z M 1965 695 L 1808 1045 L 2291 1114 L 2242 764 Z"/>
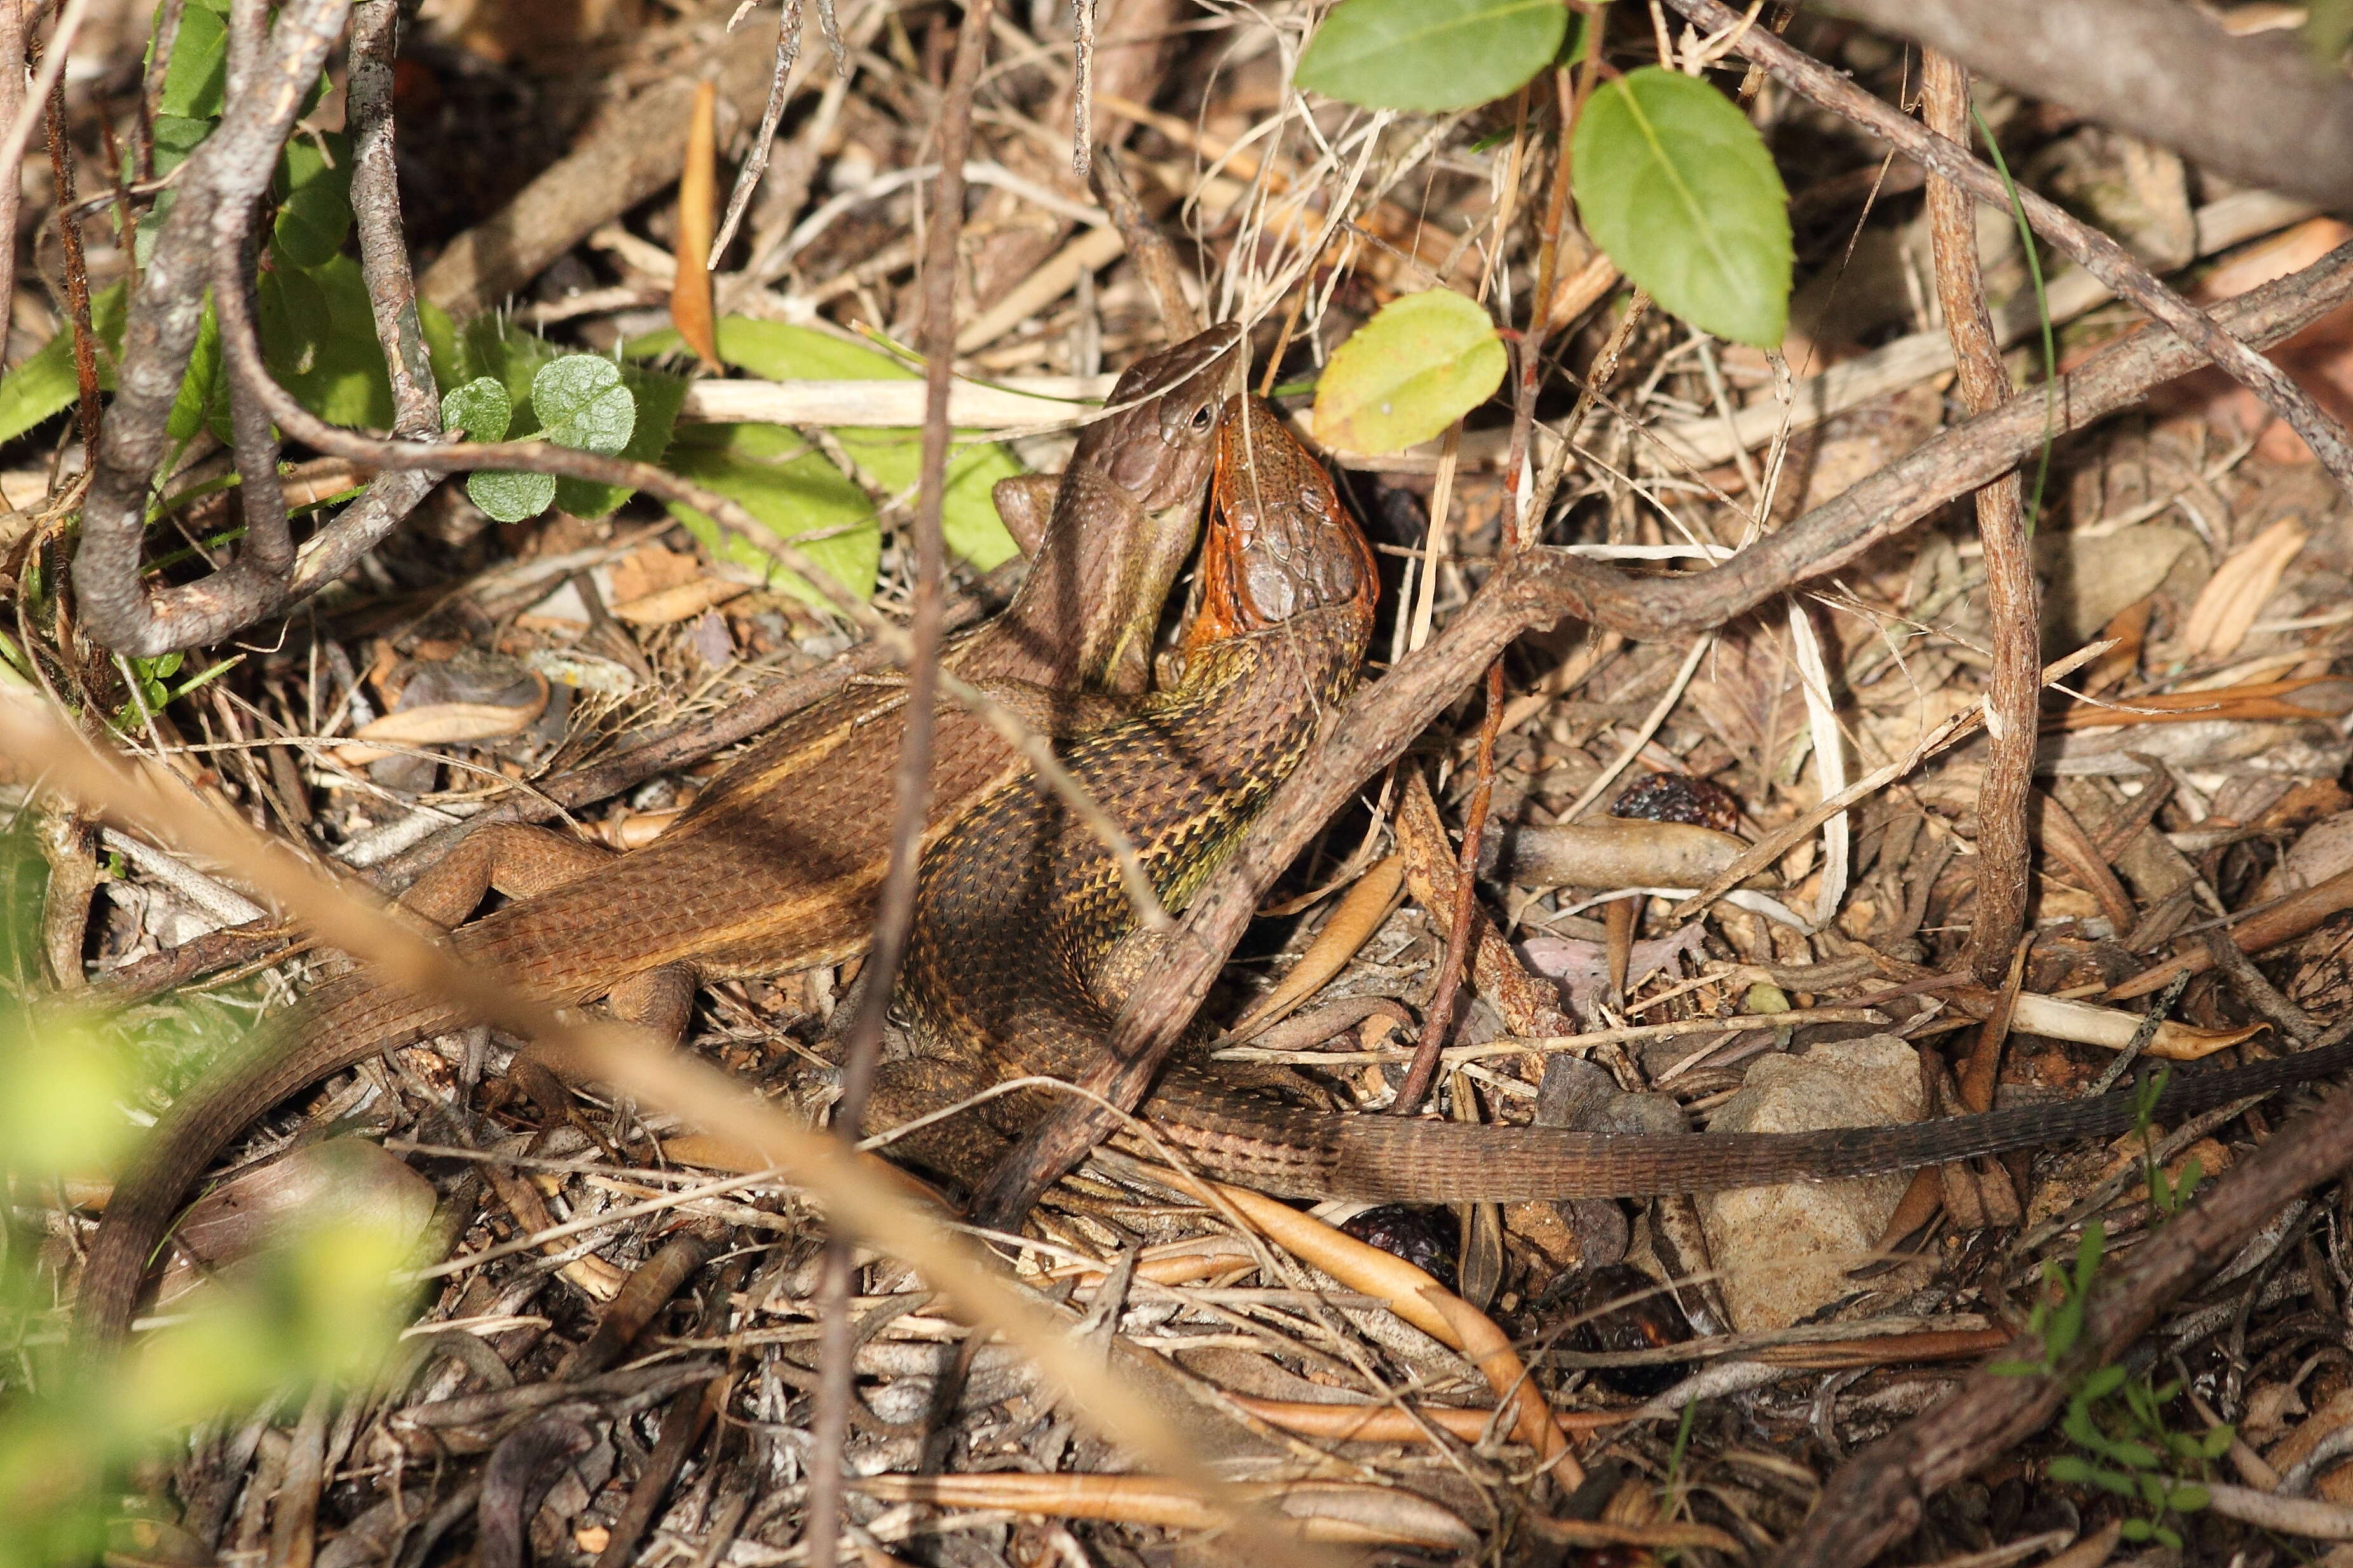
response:
<path id="1" fill-rule="evenodd" d="M 87 1347 L 106 1347 L 129 1335 L 148 1262 L 181 1197 L 254 1117 L 329 1072 L 459 1023 L 445 1006 L 346 976 L 320 985 L 280 1025 L 216 1063 L 179 1095 L 115 1180 L 75 1298 L 78 1338 Z"/>

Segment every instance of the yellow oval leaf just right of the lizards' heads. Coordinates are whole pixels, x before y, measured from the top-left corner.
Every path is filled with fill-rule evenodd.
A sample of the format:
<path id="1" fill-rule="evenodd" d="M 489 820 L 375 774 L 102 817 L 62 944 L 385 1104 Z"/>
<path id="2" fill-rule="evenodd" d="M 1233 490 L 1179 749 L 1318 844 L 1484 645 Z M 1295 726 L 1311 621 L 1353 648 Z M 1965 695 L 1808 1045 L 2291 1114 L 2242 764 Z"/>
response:
<path id="1" fill-rule="evenodd" d="M 1332 350 L 1315 381 L 1315 437 L 1348 451 L 1426 442 L 1504 386 L 1494 322 L 1452 289 L 1395 299 Z"/>

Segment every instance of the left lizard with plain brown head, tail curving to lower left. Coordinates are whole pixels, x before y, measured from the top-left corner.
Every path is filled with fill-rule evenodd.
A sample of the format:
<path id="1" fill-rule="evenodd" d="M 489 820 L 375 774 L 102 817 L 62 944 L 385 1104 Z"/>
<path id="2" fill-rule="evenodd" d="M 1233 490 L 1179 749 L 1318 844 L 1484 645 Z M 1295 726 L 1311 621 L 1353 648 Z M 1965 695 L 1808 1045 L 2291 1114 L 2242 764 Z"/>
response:
<path id="1" fill-rule="evenodd" d="M 1129 367 L 1113 414 L 1080 433 L 1042 531 L 1021 527 L 1019 491 L 1000 496 L 1014 531 L 1038 534 L 1033 562 L 1005 614 L 944 654 L 958 677 L 1047 724 L 1082 693 L 1144 689 L 1162 599 L 1198 534 L 1238 341 L 1231 324 L 1212 327 Z M 605 997 L 675 1039 L 701 980 L 791 973 L 864 947 L 889 856 L 899 691 L 849 686 L 795 715 L 640 851 L 612 858 L 499 825 L 461 839 L 402 905 L 456 926 L 499 891 L 515 903 L 449 931 L 454 952 L 529 997 Z M 972 712 L 944 703 L 936 722 L 932 835 L 1019 771 Z M 92 1239 L 82 1333 L 104 1342 L 129 1331 L 181 1194 L 254 1117 L 329 1072 L 464 1023 L 433 999 L 344 976 L 181 1095 Z"/>

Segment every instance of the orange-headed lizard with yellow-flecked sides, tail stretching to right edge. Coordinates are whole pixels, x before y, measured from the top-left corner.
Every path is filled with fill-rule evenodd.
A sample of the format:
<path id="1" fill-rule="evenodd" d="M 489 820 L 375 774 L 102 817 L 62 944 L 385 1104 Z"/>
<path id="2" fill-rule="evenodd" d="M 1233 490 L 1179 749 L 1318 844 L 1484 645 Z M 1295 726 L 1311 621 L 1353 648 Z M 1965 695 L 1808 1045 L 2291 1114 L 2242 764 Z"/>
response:
<path id="1" fill-rule="evenodd" d="M 1181 910 L 1306 755 L 1355 684 L 1372 630 L 1372 557 L 1315 458 L 1254 400 L 1221 421 L 1202 611 L 1184 679 L 1066 750 Z M 1104 1048 L 1136 973 L 1136 929 L 1092 830 L 1031 780 L 1005 785 L 922 865 L 894 997 L 915 1053 L 878 1081 L 873 1126 L 913 1121 L 1014 1077 L 1075 1079 Z M 1198 1044 L 1198 1041 L 1195 1041 Z M 1209 1175 L 1275 1197 L 1518 1201 L 1640 1197 L 1821 1180 L 2115 1135 L 2353 1067 L 2353 1041 L 2137 1093 L 1821 1133 L 1649 1138 L 1301 1110 L 1198 1063 L 1167 1067 L 1139 1107 Z M 894 1152 L 976 1182 L 1045 1110 L 1024 1088 L 911 1128 Z M 1129 1147 L 1153 1152 L 1148 1140 Z"/>

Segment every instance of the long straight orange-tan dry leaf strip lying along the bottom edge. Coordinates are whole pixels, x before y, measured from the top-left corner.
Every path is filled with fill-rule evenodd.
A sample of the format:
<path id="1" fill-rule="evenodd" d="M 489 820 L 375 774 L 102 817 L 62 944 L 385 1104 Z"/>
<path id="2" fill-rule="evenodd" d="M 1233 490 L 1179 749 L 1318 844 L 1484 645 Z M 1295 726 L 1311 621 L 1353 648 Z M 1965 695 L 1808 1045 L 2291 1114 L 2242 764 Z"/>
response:
<path id="1" fill-rule="evenodd" d="M 1085 1476 L 995 1472 L 976 1476 L 864 1476 L 852 1481 L 885 1502 L 1012 1509 L 1056 1519 L 1108 1519 L 1165 1530 L 1214 1530 L 1226 1523 L 1198 1488 L 1169 1476 Z M 1344 1481 L 1282 1481 L 1235 1486 L 1235 1495 L 1271 1505 L 1306 1540 L 1402 1542 L 1445 1552 L 1478 1547 L 1478 1535 L 1452 1512 L 1386 1486 Z"/>

